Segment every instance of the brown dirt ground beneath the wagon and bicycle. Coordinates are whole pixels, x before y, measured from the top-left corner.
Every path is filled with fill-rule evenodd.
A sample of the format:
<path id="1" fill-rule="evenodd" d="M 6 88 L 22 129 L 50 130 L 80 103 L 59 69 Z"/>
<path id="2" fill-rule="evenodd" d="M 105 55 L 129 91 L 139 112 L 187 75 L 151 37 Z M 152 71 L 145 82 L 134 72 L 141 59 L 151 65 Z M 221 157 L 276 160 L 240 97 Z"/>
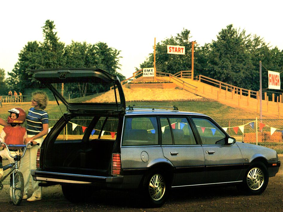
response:
<path id="1" fill-rule="evenodd" d="M 279 155 L 283 161 L 283 155 Z M 35 202 L 23 200 L 20 206 L 10 201 L 9 185 L 0 191 L 0 211 L 282 211 L 283 166 L 275 177 L 269 179 L 264 193 L 245 196 L 235 187 L 209 187 L 172 190 L 161 208 L 143 208 L 138 191 L 101 190 L 83 203 L 68 202 L 61 186 L 42 188 L 43 199 Z M 30 185 L 31 188 L 31 185 Z M 31 190 L 28 192 L 31 195 Z"/>

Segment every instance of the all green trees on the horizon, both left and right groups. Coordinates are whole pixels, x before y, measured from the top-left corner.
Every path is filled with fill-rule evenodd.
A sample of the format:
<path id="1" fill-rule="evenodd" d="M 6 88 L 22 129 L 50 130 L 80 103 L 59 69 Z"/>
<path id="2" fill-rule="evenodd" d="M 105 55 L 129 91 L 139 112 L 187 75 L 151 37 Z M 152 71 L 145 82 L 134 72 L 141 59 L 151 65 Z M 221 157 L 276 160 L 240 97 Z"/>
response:
<path id="1" fill-rule="evenodd" d="M 23 91 L 25 88 L 40 88 L 42 85 L 33 78 L 30 70 L 56 67 L 101 68 L 120 80 L 125 76 L 120 70 L 120 51 L 106 43 L 74 42 L 65 45 L 59 41 L 55 24 L 45 21 L 42 27 L 43 42 L 28 42 L 19 53 L 19 60 L 5 78 L 4 69 L 0 69 L 0 94 L 7 95 L 8 90 Z M 185 55 L 167 54 L 167 45 L 185 46 Z M 158 71 L 176 73 L 191 69 L 190 30 L 183 29 L 177 36 L 169 37 L 156 44 L 156 67 Z M 268 85 L 267 68 L 277 72 L 283 71 L 283 50 L 271 48 L 264 39 L 246 34 L 245 30 L 235 29 L 232 24 L 222 29 L 216 40 L 200 46 L 195 44 L 194 73 L 202 74 L 228 84 L 250 90 L 259 90 L 259 61 L 262 61 L 262 85 Z M 153 67 L 153 52 L 140 64 L 140 68 Z M 281 79 L 282 81 L 282 79 Z M 80 89 L 83 85 L 80 85 Z M 68 88 L 65 88 L 68 89 Z M 72 87 L 74 89 L 74 87 Z M 81 93 L 97 93 L 104 87 L 85 86 Z M 274 90 L 278 91 L 278 90 Z"/>

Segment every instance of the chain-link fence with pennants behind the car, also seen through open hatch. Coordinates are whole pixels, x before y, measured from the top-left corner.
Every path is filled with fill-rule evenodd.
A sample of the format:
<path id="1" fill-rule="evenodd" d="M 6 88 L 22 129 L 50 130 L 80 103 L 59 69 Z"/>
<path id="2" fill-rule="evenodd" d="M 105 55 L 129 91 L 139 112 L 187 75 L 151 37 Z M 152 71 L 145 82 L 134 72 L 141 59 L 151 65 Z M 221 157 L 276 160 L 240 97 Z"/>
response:
<path id="1" fill-rule="evenodd" d="M 58 119 L 49 119 L 49 127 L 53 127 Z M 77 119 L 70 121 L 60 133 L 62 140 L 82 139 L 85 127 L 91 119 Z M 117 120 L 115 120 L 116 122 Z M 226 132 L 238 142 L 245 143 L 283 143 L 283 119 L 215 119 L 215 121 L 226 130 Z M 76 123 L 75 123 L 76 122 Z M 260 124 L 261 123 L 261 124 Z M 114 127 L 114 126 L 113 126 Z M 113 127 L 111 127 L 113 129 Z M 256 133 L 257 129 L 257 133 Z M 91 139 L 97 138 L 100 129 L 94 129 Z M 104 139 L 115 139 L 116 132 L 105 130 Z"/>

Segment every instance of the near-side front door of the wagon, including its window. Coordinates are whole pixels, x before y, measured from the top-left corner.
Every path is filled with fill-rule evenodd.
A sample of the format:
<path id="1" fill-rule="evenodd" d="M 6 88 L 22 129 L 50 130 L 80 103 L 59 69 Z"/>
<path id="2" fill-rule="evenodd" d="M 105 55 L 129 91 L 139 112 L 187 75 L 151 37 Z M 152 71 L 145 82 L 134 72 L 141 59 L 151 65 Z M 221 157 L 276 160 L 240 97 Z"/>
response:
<path id="1" fill-rule="evenodd" d="M 209 117 L 193 116 L 192 121 L 204 150 L 204 183 L 238 181 L 243 158 L 237 144 L 228 144 L 227 133 Z"/>

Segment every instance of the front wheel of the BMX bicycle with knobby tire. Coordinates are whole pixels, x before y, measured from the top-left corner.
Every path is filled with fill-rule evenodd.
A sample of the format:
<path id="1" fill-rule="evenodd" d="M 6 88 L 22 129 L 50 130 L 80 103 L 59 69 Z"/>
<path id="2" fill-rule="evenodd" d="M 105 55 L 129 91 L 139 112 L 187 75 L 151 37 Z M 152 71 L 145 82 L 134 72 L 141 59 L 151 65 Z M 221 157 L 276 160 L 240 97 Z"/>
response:
<path id="1" fill-rule="evenodd" d="M 14 186 L 12 186 L 12 202 L 14 205 L 19 205 L 22 202 L 24 195 L 24 177 L 19 171 L 14 174 Z"/>

